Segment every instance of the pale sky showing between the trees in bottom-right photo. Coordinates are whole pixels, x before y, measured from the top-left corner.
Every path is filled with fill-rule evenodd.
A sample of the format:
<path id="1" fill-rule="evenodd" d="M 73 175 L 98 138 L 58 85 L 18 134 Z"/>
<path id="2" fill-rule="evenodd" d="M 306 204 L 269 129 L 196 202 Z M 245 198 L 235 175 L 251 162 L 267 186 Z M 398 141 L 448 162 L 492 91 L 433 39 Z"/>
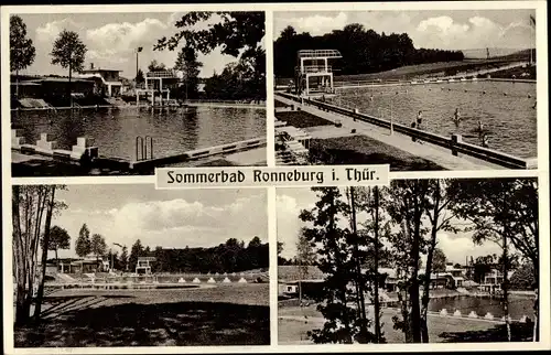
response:
<path id="1" fill-rule="evenodd" d="M 346 197 L 345 197 L 346 198 Z M 310 189 L 278 189 L 277 194 L 277 216 L 278 216 L 278 241 L 283 243 L 281 256 L 293 258 L 296 255 L 296 240 L 299 232 L 305 224 L 299 219 L 302 209 L 312 209 L 317 201 L 316 193 Z M 358 216 L 358 220 L 360 217 Z M 479 256 L 489 254 L 500 255 L 500 248 L 491 243 L 483 245 L 473 244 L 469 233 L 447 233 L 440 232 L 436 236 L 437 245 L 447 260 L 453 263 L 465 263 L 465 257 L 473 256 L 476 259 Z"/>

